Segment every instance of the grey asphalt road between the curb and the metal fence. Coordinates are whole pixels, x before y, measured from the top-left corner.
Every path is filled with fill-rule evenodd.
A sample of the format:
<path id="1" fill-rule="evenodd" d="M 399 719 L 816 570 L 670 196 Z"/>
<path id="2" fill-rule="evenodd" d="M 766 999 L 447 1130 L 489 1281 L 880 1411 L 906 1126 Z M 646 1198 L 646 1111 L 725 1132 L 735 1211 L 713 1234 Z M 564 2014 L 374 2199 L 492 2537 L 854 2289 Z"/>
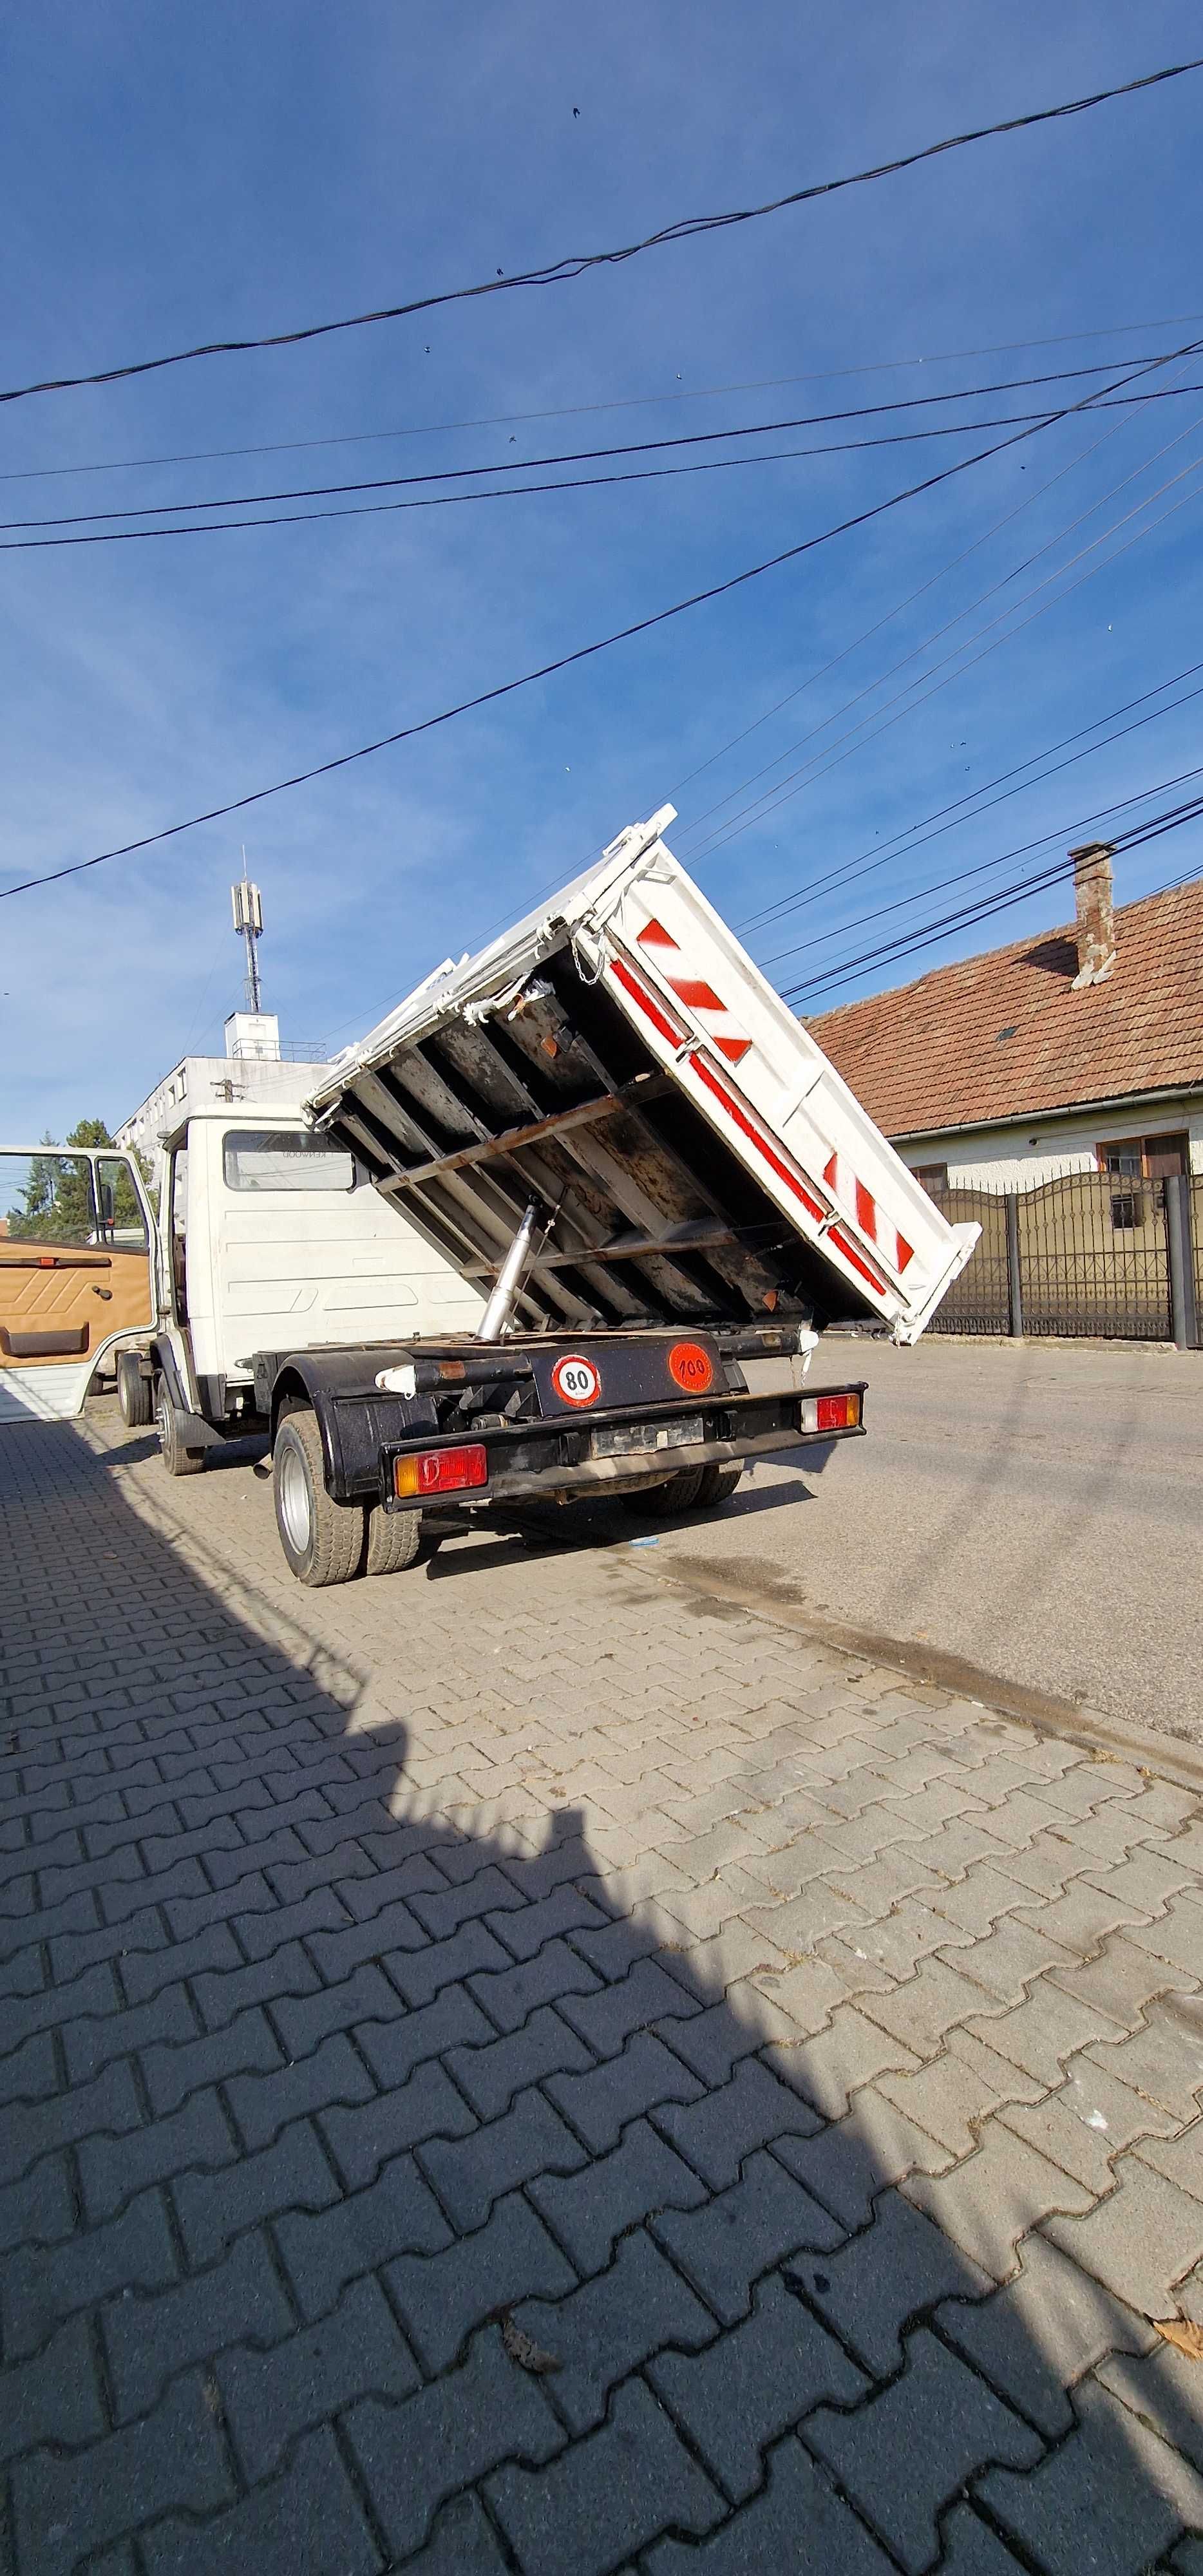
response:
<path id="1" fill-rule="evenodd" d="M 858 1376 L 866 1440 L 755 1468 L 647 1571 L 1203 1741 L 1203 1352 L 933 1337 L 829 1342 L 811 1370 Z"/>

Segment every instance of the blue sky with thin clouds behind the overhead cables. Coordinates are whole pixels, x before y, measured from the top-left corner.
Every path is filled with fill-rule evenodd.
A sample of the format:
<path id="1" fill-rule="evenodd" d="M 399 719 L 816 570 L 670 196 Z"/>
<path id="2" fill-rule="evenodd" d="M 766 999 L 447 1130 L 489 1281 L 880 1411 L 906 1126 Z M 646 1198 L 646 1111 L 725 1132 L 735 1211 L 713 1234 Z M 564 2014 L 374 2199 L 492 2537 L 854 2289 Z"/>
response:
<path id="1" fill-rule="evenodd" d="M 755 204 L 1182 59 L 1198 52 L 1198 10 L 44 0 L 10 13 L 5 44 L 3 374 L 21 384 Z M 0 515 L 510 464 L 1177 348 L 1203 337 L 1200 113 L 1193 75 L 574 286 L 3 407 Z M 1188 314 L 1200 319 L 1167 327 Z M 1069 340 L 1085 332 L 1097 337 Z M 999 355 L 1005 343 L 1056 345 Z M 974 350 L 994 355 L 945 355 Z M 1203 363 L 1177 381 L 1203 386 Z M 1043 397 L 992 397 L 976 415 L 1030 399 Z M 515 417 L 536 412 L 567 417 Z M 440 428 L 500 415 L 492 428 Z M 407 435 L 366 440 L 384 430 Z M 363 443 L 64 471 L 340 435 Z M 806 435 L 824 433 L 763 446 Z M 951 438 L 314 528 L 10 551 L 0 884 L 428 716 L 969 448 Z M 665 799 L 683 817 L 672 845 L 737 922 L 889 848 L 951 799 L 1203 662 L 1203 474 L 1182 474 L 1195 459 L 1203 392 L 1066 422 L 726 600 L 242 824 L 0 904 L 0 1126 L 21 1136 L 90 1113 L 116 1121 L 185 1048 L 222 1046 L 240 999 L 227 886 L 242 835 L 268 920 L 265 999 L 286 1036 L 332 1043 Z M 1028 556 L 1038 562 L 1018 572 Z M 1010 618 L 987 626 L 1010 600 Z M 948 621 L 951 634 L 927 641 Z M 961 662 L 935 675 L 953 670 L 951 685 L 886 708 L 907 683 L 917 696 L 953 644 Z M 981 657 L 984 644 L 997 649 Z M 860 884 L 811 896 L 783 930 L 755 933 L 752 951 L 796 951 L 773 966 L 783 981 L 853 956 L 891 927 L 858 927 L 876 904 L 1198 765 L 1200 708 L 1146 724 L 927 848 L 902 845 Z M 896 721 L 876 732 L 886 714 Z M 770 778 L 739 791 L 765 762 L 778 762 Z M 747 814 L 804 762 L 796 793 Z M 716 799 L 729 801 L 706 814 Z M 742 829 L 716 840 L 732 817 Z M 1195 863 L 1203 837 L 1188 827 L 1121 860 L 1118 899 Z M 933 891 L 896 922 L 953 902 Z M 1054 889 L 876 981 L 1059 917 Z M 806 1007 L 871 987 L 873 974 Z"/>

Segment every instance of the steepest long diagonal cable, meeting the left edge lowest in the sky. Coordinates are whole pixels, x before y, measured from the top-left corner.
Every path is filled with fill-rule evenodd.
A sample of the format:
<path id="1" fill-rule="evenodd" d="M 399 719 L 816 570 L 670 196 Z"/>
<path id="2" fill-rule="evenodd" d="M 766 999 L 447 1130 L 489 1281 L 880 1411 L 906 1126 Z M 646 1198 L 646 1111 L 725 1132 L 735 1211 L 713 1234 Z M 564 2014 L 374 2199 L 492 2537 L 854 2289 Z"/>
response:
<path id="1" fill-rule="evenodd" d="M 1190 350 L 1177 350 L 1177 355 L 1190 355 Z M 1141 368 L 1133 374 L 1141 374 Z M 1131 384 L 1133 374 L 1118 376 L 1110 386 L 1105 386 L 1105 392 L 1118 392 L 1121 384 Z M 693 590 L 685 600 L 672 600 L 670 608 L 657 608 L 652 616 L 636 618 L 631 626 L 618 626 L 613 634 L 598 636 L 592 644 L 577 644 L 574 652 L 556 654 L 554 662 L 541 662 L 538 670 L 520 672 L 515 680 L 500 680 L 495 688 L 484 688 L 474 698 L 461 698 L 459 706 L 446 706 L 435 716 L 422 716 L 417 724 L 402 724 L 394 734 L 381 734 L 376 742 L 361 742 L 355 750 L 337 752 L 332 760 L 317 760 L 309 770 L 296 770 L 291 778 L 276 778 L 265 788 L 250 788 L 245 796 L 229 796 L 224 804 L 209 806 L 204 814 L 188 814 L 183 822 L 162 824 L 157 832 L 142 832 L 137 840 L 118 842 L 113 850 L 98 850 L 93 858 L 77 858 L 64 868 L 46 868 L 41 876 L 26 876 L 13 886 L 0 886 L 0 902 L 13 894 L 31 894 L 33 886 L 62 884 L 67 876 L 85 876 L 90 868 L 103 868 L 111 858 L 131 858 L 137 850 L 178 840 L 180 832 L 193 832 L 198 824 L 222 822 L 227 814 L 242 814 L 252 804 L 265 804 L 268 796 L 283 796 L 286 788 L 309 786 L 314 778 L 330 778 L 332 770 L 345 770 L 355 760 L 368 760 L 374 752 L 392 750 L 397 742 L 412 742 L 417 734 L 430 734 L 435 726 L 451 724 L 456 716 L 469 716 L 482 706 L 495 706 L 500 698 L 510 698 L 518 688 L 531 688 L 531 683 L 549 680 L 559 670 L 590 662 L 595 654 L 611 652 L 613 644 L 629 644 L 634 636 L 649 634 L 654 626 L 665 626 L 670 618 L 685 616 L 688 608 L 721 600 L 732 590 L 742 590 L 747 582 L 760 580 L 765 572 L 775 572 L 781 564 L 793 564 L 799 556 L 814 554 L 817 546 L 827 546 L 835 536 L 848 536 L 853 528 L 863 528 L 871 520 L 884 518 L 904 500 L 935 492 L 938 484 L 953 482 L 956 474 L 966 474 L 989 456 L 1002 456 L 1005 448 L 1015 448 L 1025 438 L 1036 438 L 1038 430 L 1051 428 L 1054 420 L 1069 420 L 1074 412 L 1090 410 L 1095 399 L 1095 394 L 1082 394 L 1079 402 L 1066 404 L 1064 412 L 1054 412 L 1051 420 L 1038 422 L 1036 428 L 1015 430 L 1010 438 L 999 438 L 994 446 L 979 448 L 976 456 L 958 456 L 956 464 L 940 466 L 938 474 L 925 474 L 922 482 L 907 484 L 902 492 L 891 492 L 886 500 L 871 502 L 866 510 L 855 510 L 853 518 L 837 520 L 835 528 L 822 528 L 819 536 L 804 536 L 796 546 L 783 546 L 781 554 L 770 554 L 760 564 L 747 564 L 744 572 L 732 572 L 724 582 Z"/>

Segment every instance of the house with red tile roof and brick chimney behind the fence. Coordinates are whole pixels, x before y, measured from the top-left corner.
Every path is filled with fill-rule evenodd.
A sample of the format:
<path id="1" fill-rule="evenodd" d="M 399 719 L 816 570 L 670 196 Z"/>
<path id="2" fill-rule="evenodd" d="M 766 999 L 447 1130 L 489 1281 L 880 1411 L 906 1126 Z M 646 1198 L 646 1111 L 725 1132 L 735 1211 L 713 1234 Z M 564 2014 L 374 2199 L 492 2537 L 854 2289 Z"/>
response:
<path id="1" fill-rule="evenodd" d="M 1069 855 L 1072 925 L 806 1023 L 935 1190 L 1203 1175 L 1203 878 L 1115 912 L 1110 848 Z"/>

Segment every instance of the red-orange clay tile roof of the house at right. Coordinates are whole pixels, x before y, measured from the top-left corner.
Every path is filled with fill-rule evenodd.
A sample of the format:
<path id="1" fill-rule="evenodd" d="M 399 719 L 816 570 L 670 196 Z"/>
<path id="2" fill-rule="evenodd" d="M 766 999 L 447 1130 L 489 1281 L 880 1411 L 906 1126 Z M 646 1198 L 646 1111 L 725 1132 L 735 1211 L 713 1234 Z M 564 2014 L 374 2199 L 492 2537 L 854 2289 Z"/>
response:
<path id="1" fill-rule="evenodd" d="M 1203 878 L 1115 912 L 1108 984 L 1074 974 L 1074 930 L 1048 930 L 806 1028 L 886 1136 L 1203 1087 Z"/>

